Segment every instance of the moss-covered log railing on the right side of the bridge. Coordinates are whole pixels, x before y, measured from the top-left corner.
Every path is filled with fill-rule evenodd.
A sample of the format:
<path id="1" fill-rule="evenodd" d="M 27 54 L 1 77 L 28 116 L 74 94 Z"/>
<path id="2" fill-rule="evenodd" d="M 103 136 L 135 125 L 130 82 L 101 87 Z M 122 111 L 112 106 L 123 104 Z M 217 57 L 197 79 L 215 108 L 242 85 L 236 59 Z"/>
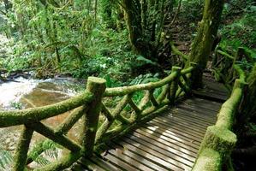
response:
<path id="1" fill-rule="evenodd" d="M 237 141 L 232 127 L 246 85 L 246 77 L 242 69 L 239 66 L 236 66 L 235 69 L 239 73 L 240 79 L 235 80 L 231 96 L 223 103 L 217 115 L 216 124 L 207 127 L 205 137 L 200 145 L 199 155 L 193 165 L 193 171 L 229 170 L 232 167 L 230 153 Z"/>

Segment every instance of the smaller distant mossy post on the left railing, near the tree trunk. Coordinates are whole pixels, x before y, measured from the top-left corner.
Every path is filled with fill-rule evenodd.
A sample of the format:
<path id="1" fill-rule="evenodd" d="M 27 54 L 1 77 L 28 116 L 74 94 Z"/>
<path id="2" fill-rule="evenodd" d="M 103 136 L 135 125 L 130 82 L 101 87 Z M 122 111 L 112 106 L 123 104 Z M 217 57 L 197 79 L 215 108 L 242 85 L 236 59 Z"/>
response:
<path id="1" fill-rule="evenodd" d="M 182 68 L 179 68 L 179 67 L 172 67 L 171 68 L 171 73 L 174 73 L 174 72 L 177 73 L 176 79 L 171 82 L 170 93 L 168 95 L 168 99 L 170 100 L 171 104 L 175 103 L 176 91 L 178 89 L 178 81 L 179 81 L 180 76 L 181 76 L 181 71 L 182 71 Z"/>

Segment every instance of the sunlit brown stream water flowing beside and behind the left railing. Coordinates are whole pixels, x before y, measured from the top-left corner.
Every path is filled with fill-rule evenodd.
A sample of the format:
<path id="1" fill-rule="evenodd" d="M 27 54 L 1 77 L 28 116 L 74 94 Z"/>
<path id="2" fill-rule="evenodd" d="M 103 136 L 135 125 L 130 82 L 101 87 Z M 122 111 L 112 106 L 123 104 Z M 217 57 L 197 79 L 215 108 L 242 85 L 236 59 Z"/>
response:
<path id="1" fill-rule="evenodd" d="M 45 106 L 73 97 L 82 90 L 84 90 L 84 84 L 72 79 L 27 80 L 18 78 L 0 85 L 0 109 L 27 109 Z M 57 127 L 67 117 L 68 113 L 57 115 L 43 121 L 43 123 L 50 127 Z M 0 170 L 10 169 L 8 164 L 4 163 L 3 154 L 8 151 L 11 156 L 14 155 L 20 133 L 21 126 L 0 128 Z M 68 137 L 77 140 L 79 133 L 80 124 L 77 123 L 68 133 Z M 39 133 L 34 133 L 30 145 L 33 146 L 35 142 L 44 139 Z M 60 150 L 58 153 L 62 152 Z M 5 168 L 1 168 L 1 162 L 3 162 Z"/>

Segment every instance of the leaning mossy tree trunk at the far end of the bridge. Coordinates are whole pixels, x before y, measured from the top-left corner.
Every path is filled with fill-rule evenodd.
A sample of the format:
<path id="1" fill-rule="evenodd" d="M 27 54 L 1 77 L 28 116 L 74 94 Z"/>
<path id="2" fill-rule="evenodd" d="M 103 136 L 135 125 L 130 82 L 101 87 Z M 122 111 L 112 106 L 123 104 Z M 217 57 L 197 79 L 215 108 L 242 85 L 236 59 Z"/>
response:
<path id="1" fill-rule="evenodd" d="M 199 23 L 199 31 L 193 40 L 189 62 L 198 63 L 198 69 L 193 73 L 193 88 L 202 85 L 202 74 L 211 54 L 212 44 L 217 36 L 223 11 L 223 0 L 205 0 L 204 15 Z"/>

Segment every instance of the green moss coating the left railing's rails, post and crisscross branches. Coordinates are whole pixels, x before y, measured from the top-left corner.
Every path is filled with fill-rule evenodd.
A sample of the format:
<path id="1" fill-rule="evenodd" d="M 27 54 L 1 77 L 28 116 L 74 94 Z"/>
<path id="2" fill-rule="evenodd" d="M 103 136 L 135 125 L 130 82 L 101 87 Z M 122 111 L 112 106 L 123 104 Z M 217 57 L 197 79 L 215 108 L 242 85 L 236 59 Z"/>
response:
<path id="1" fill-rule="evenodd" d="M 68 156 L 64 156 L 59 162 L 52 163 L 49 166 L 39 168 L 36 170 L 60 170 L 70 166 L 80 155 L 90 157 L 92 156 L 93 147 L 96 144 L 100 144 L 104 141 L 121 136 L 128 133 L 133 127 L 137 127 L 141 122 L 149 121 L 152 117 L 162 113 L 168 108 L 170 100 L 166 98 L 168 91 L 170 91 L 170 81 L 173 84 L 180 78 L 180 74 L 189 74 L 193 70 L 193 67 L 186 70 L 174 67 L 172 74 L 166 77 L 164 80 L 160 80 L 155 83 L 134 85 L 129 87 L 118 87 L 114 89 L 105 89 L 105 80 L 90 77 L 87 81 L 86 91 L 77 97 L 70 98 L 61 103 L 53 105 L 25 109 L 18 111 L 3 111 L 0 112 L 0 127 L 9 127 L 13 125 L 25 124 L 26 130 L 22 132 L 20 144 L 16 152 L 16 165 L 15 170 L 23 170 L 26 166 L 26 162 L 31 162 L 31 158 L 27 160 L 27 150 L 33 134 L 33 130 L 44 135 L 46 138 L 51 139 L 57 144 L 61 144 L 68 150 L 72 151 Z M 158 87 L 162 87 L 162 92 L 157 99 L 153 97 L 153 90 Z M 176 89 L 173 89 L 169 93 L 176 95 Z M 145 97 L 140 101 L 139 107 L 132 101 L 131 93 L 134 91 L 146 91 Z M 105 92 L 105 93 L 104 93 Z M 181 94 L 183 91 L 181 91 Z M 180 94 L 180 93 L 179 93 Z M 116 106 L 116 109 L 110 113 L 101 102 L 104 96 L 124 96 L 120 103 Z M 182 94 L 183 96 L 183 94 Z M 144 109 L 144 105 L 149 101 L 152 102 L 152 107 Z M 135 114 L 131 114 L 129 119 L 122 115 L 122 110 L 126 105 L 130 105 L 134 109 Z M 102 109 L 103 106 L 103 109 Z M 142 106 L 142 107 L 141 107 Z M 56 130 L 51 127 L 46 127 L 42 124 L 41 120 L 62 114 L 63 112 L 74 109 L 74 111 L 68 115 L 68 118 L 57 127 Z M 142 110 L 143 109 L 143 110 Z M 106 119 L 101 127 L 98 128 L 98 116 L 103 110 Z M 83 145 L 76 144 L 71 139 L 68 139 L 64 134 L 74 125 L 80 117 L 84 118 L 84 133 L 83 133 Z M 116 120 L 122 122 L 109 130 L 111 125 Z M 29 125 L 27 124 L 29 123 Z M 98 131 L 97 131 L 98 128 Z M 107 133 L 106 133 L 107 132 Z M 39 152 L 42 152 L 42 148 L 38 148 Z M 80 154 L 83 152 L 83 154 Z"/>

